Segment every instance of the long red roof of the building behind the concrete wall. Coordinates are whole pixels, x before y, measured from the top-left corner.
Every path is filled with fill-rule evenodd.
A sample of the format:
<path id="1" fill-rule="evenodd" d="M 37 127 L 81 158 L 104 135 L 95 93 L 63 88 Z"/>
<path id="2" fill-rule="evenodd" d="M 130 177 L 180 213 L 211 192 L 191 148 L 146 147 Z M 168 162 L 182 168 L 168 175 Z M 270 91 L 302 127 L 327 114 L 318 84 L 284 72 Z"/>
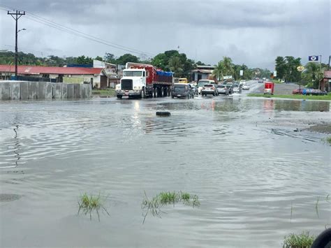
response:
<path id="1" fill-rule="evenodd" d="M 18 74 L 64 74 L 64 75 L 91 75 L 101 74 L 103 68 L 85 67 L 55 67 L 55 66 L 17 66 Z M 1 72 L 15 73 L 15 66 L 0 65 Z"/>

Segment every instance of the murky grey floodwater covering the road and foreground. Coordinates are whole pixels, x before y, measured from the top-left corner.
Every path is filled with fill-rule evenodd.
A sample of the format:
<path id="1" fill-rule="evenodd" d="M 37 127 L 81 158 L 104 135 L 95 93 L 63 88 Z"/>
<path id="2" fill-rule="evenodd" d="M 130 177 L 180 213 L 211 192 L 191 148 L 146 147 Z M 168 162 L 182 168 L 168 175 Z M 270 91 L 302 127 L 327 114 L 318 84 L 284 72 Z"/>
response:
<path id="1" fill-rule="evenodd" d="M 304 128 L 329 111 L 247 96 L 2 102 L 0 246 L 281 247 L 321 233 L 330 145 Z M 163 206 L 142 224 L 144 191 L 197 194 L 200 207 Z M 84 192 L 110 216 L 78 215 Z"/>

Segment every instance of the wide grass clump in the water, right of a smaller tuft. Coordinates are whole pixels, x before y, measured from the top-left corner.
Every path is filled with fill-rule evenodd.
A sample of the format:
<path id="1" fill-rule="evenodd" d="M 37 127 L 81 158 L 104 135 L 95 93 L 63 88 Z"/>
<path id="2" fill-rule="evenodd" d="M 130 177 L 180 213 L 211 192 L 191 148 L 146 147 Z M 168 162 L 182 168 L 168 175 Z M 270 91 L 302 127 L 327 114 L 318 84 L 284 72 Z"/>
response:
<path id="1" fill-rule="evenodd" d="M 191 195 L 186 192 L 182 192 L 182 191 L 161 192 L 156 196 L 154 196 L 152 200 L 149 200 L 145 192 L 145 198 L 144 200 L 142 200 L 142 210 L 145 210 L 145 213 L 142 214 L 144 217 L 142 223 L 145 223 L 145 219 L 148 213 L 151 213 L 152 216 L 154 217 L 156 216 L 161 218 L 161 213 L 165 213 L 161 211 L 162 206 L 170 205 L 170 204 L 175 206 L 175 203 L 179 203 L 179 202 L 182 202 L 184 205 L 189 205 L 192 207 L 200 206 L 200 201 L 198 200 L 198 196 Z"/>

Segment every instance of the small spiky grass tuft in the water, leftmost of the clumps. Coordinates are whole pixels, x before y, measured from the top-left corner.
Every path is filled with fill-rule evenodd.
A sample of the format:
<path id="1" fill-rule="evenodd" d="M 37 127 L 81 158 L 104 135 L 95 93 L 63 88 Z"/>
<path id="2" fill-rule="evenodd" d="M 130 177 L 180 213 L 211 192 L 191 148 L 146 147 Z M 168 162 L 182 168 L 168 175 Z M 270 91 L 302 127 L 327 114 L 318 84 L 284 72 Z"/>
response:
<path id="1" fill-rule="evenodd" d="M 89 196 L 84 193 L 82 196 L 80 196 L 80 200 L 78 200 L 78 214 L 80 214 L 80 211 L 82 211 L 85 215 L 89 214 L 89 219 L 91 220 L 92 212 L 96 211 L 96 214 L 98 214 L 98 220 L 100 221 L 100 210 L 110 215 L 107 209 L 103 206 L 102 201 L 103 200 L 101 199 L 100 194 L 98 194 L 98 196 Z"/>

